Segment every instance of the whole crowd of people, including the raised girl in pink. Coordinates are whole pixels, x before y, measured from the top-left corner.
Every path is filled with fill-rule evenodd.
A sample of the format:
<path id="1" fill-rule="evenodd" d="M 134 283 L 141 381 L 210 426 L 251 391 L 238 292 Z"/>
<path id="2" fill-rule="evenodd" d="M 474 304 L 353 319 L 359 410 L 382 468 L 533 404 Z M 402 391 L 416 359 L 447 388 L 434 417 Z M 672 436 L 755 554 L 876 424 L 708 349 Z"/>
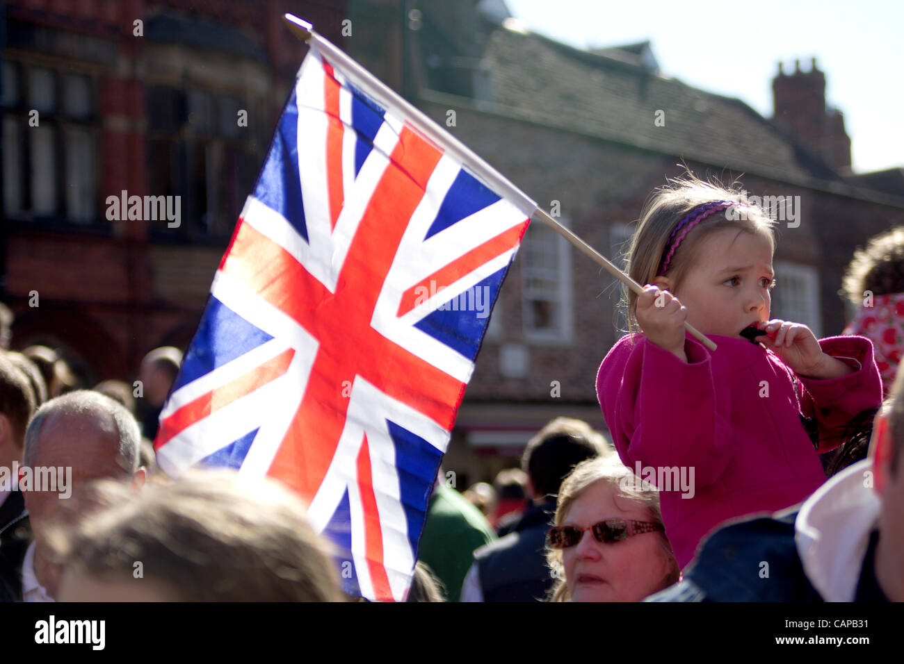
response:
<path id="1" fill-rule="evenodd" d="M 904 600 L 904 229 L 856 253 L 852 322 L 817 340 L 770 318 L 774 223 L 692 177 L 654 192 L 597 375 L 608 434 L 555 418 L 463 492 L 440 469 L 409 601 Z M 277 482 L 156 468 L 180 351 L 86 389 L 58 351 L 9 350 L 12 320 L 0 469 L 59 470 L 71 500 L 6 473 L 0 601 L 354 599 Z"/>

